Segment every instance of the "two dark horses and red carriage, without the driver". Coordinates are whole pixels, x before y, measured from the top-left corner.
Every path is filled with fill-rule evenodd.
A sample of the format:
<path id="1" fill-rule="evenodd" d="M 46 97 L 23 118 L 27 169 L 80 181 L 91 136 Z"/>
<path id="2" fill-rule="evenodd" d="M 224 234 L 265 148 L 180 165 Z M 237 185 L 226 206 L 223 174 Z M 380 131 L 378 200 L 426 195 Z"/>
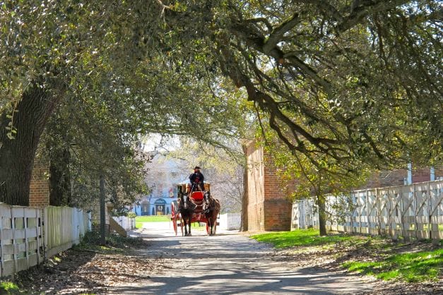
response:
<path id="1" fill-rule="evenodd" d="M 175 235 L 177 236 L 180 227 L 182 236 L 191 236 L 191 224 L 194 222 L 205 223 L 206 233 L 214 235 L 220 203 L 211 196 L 210 183 L 204 184 L 203 191 L 195 191 L 192 186 L 189 194 L 186 186 L 186 183 L 177 184 L 177 201 L 171 203 L 171 221 Z"/>

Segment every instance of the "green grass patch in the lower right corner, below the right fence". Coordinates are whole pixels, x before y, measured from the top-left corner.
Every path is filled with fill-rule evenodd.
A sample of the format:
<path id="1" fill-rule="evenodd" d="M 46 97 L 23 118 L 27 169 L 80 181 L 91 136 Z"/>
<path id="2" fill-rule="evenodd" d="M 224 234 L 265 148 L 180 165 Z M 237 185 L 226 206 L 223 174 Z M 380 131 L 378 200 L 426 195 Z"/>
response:
<path id="1" fill-rule="evenodd" d="M 390 255 L 379 262 L 348 262 L 343 267 L 384 280 L 437 281 L 443 275 L 443 249 Z"/>

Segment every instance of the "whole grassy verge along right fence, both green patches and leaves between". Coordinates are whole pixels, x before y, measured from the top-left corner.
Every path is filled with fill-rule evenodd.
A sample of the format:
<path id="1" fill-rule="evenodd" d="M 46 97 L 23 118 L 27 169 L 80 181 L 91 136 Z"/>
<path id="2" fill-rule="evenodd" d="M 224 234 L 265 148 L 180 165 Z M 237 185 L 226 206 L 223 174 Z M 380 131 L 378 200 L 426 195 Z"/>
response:
<path id="1" fill-rule="evenodd" d="M 379 279 L 397 279 L 406 282 L 437 281 L 443 275 L 443 248 L 429 248 L 430 244 L 421 242 L 420 247 L 404 243 L 393 243 L 389 239 L 370 236 L 351 236 L 331 234 L 319 236 L 317 229 L 273 232 L 251 236 L 256 241 L 271 243 L 275 248 L 298 247 L 297 251 L 309 252 L 321 246 L 332 254 L 341 249 L 348 253 L 364 249 L 365 256 L 348 258 L 341 267 L 352 272 L 374 275 Z M 428 245 L 428 246 L 427 246 Z M 424 249 L 423 249 L 424 248 Z M 422 251 L 420 251 L 422 250 Z M 343 254 L 343 253 L 342 253 Z M 336 256 L 337 258 L 339 256 Z M 362 259 L 370 261 L 361 261 Z M 359 261 L 360 260 L 360 261 Z"/>

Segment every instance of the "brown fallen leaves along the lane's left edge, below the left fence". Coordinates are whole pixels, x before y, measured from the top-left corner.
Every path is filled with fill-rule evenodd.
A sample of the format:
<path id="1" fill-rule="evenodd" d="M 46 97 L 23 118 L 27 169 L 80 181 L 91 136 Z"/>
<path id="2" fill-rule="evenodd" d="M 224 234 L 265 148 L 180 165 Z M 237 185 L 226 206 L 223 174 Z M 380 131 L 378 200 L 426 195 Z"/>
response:
<path id="1" fill-rule="evenodd" d="M 162 272 L 165 260 L 69 250 L 44 265 L 20 272 L 17 282 L 33 294 L 105 294 L 119 282 L 140 282 Z"/>

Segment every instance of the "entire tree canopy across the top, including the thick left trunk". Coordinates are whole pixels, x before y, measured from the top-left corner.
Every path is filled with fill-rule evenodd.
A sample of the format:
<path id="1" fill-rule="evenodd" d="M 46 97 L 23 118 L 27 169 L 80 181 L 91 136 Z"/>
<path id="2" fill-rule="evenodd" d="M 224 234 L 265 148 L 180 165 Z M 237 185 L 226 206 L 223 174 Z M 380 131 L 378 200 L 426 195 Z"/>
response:
<path id="1" fill-rule="evenodd" d="M 441 16 L 436 0 L 1 2 L 1 198 L 26 203 L 16 182 L 58 106 L 59 132 L 81 129 L 59 138 L 85 150 L 148 132 L 223 147 L 263 119 L 322 171 L 441 162 Z"/>

